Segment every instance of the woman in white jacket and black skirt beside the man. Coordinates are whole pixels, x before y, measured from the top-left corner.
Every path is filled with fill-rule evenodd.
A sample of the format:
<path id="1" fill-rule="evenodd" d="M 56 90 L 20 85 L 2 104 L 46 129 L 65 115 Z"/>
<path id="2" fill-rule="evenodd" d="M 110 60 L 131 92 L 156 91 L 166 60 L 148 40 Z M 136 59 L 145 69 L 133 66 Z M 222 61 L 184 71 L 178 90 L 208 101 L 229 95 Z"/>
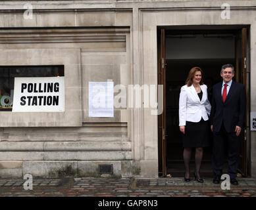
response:
<path id="1" fill-rule="evenodd" d="M 190 70 L 186 85 L 180 90 L 179 121 L 183 133 L 184 180 L 190 181 L 190 157 L 195 148 L 195 180 L 203 182 L 200 167 L 203 148 L 209 146 L 209 115 L 211 104 L 207 96 L 207 86 L 203 85 L 203 71 L 199 67 Z"/>

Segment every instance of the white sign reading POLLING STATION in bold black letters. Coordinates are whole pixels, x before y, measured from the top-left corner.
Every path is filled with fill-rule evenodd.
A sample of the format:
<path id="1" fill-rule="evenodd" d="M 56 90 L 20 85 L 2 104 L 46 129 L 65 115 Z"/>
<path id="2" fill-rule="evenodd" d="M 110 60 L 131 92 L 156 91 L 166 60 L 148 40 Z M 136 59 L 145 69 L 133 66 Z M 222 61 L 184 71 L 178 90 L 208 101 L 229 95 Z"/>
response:
<path id="1" fill-rule="evenodd" d="M 64 77 L 15 77 L 13 112 L 64 112 Z"/>

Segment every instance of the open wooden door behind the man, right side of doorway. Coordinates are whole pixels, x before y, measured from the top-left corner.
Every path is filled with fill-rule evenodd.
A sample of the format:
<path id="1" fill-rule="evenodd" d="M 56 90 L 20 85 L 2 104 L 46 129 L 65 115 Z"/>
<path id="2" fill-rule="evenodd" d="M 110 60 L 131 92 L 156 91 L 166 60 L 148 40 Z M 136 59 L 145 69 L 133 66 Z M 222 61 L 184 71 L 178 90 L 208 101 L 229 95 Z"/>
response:
<path id="1" fill-rule="evenodd" d="M 236 36 L 236 81 L 242 83 L 246 89 L 247 107 L 249 104 L 248 87 L 247 87 L 247 28 L 242 28 Z M 238 171 L 243 177 L 247 177 L 247 131 L 249 124 L 247 123 L 247 110 L 245 112 L 244 129 L 241 137 L 241 150 L 238 165 Z"/>

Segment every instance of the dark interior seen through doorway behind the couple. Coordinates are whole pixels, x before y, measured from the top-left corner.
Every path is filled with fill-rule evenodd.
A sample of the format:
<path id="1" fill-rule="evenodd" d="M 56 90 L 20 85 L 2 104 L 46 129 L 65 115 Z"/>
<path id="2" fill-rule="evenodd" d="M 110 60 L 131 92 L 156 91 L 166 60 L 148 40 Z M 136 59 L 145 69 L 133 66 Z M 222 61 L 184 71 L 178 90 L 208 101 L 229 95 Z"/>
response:
<path id="1" fill-rule="evenodd" d="M 228 63 L 236 66 L 235 35 L 205 35 L 195 31 L 180 31 L 180 34 L 175 31 L 175 34 L 166 34 L 166 167 L 167 174 L 175 177 L 184 175 L 182 135 L 178 126 L 180 88 L 185 84 L 188 72 L 194 66 L 199 66 L 205 72 L 205 84 L 209 91 L 215 83 L 221 81 L 221 66 Z M 209 97 L 211 98 L 211 95 Z M 204 150 L 201 165 L 203 177 L 212 176 L 211 150 L 211 146 Z M 194 171 L 194 152 L 190 171 Z"/>

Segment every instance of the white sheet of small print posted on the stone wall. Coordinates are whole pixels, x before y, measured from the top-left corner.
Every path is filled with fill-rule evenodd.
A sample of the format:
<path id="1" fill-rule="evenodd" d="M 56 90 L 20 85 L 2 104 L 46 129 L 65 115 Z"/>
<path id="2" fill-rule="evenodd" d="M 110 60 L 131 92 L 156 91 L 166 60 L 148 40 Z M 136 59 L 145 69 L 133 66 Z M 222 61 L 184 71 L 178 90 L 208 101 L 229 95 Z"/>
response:
<path id="1" fill-rule="evenodd" d="M 114 117 L 114 82 L 89 82 L 89 117 Z"/>

